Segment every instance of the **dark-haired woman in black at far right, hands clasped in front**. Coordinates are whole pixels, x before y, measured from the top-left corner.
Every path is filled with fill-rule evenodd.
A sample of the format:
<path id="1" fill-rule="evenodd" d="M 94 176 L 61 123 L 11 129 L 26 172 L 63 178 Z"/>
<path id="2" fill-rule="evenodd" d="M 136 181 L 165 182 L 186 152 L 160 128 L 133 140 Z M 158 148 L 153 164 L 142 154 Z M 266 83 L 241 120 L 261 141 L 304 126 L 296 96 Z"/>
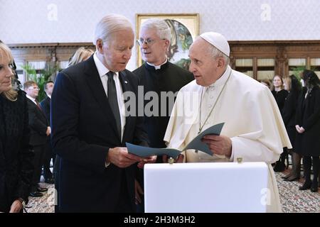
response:
<path id="1" fill-rule="evenodd" d="M 311 70 L 303 72 L 306 89 L 299 97 L 297 106 L 295 150 L 303 156 L 304 177 L 306 181 L 299 190 L 311 189 L 318 192 L 320 155 L 320 88 L 319 78 Z M 311 160 L 314 178 L 311 182 Z"/>

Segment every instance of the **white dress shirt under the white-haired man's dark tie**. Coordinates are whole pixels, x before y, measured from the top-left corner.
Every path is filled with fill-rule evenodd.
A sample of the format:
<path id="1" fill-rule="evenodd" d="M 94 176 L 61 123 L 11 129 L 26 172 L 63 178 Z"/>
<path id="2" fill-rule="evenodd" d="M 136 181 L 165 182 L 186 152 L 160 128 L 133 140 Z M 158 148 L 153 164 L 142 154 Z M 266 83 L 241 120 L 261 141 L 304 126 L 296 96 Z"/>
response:
<path id="1" fill-rule="evenodd" d="M 100 75 L 100 79 L 102 82 L 103 89 L 105 89 L 105 94 L 108 96 L 108 87 L 107 87 L 107 81 L 108 76 L 107 73 L 110 71 L 105 67 L 105 65 L 102 64 L 102 62 L 97 57 L 97 52 L 93 55 L 93 60 L 95 60 L 95 66 L 97 67 L 97 71 Z M 123 132 L 124 132 L 124 126 L 126 125 L 126 116 L 125 116 L 125 106 L 124 106 L 124 97 L 122 93 L 122 87 L 119 80 L 119 72 L 114 72 L 113 79 L 115 82 L 115 86 L 117 89 L 117 100 L 118 100 L 118 106 L 119 106 L 119 112 L 120 112 L 120 121 L 121 121 L 121 140 L 123 138 Z"/>

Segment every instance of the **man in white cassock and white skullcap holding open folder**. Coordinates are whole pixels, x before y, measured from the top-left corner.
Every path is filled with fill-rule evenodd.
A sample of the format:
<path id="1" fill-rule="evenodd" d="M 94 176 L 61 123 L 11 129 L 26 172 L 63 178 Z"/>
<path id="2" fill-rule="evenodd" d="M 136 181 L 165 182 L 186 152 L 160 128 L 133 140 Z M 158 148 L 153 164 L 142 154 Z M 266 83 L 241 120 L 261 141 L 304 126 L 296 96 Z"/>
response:
<path id="1" fill-rule="evenodd" d="M 213 155 L 186 150 L 185 162 L 266 162 L 269 167 L 268 212 L 281 212 L 271 163 L 282 148 L 292 148 L 277 103 L 270 90 L 232 70 L 228 41 L 219 33 L 203 33 L 189 50 L 195 80 L 176 98 L 164 140 L 168 148 L 184 148 L 199 132 L 225 122 L 220 135 L 207 135 Z M 252 181 L 255 179 L 252 179 Z M 236 187 L 236 185 L 235 185 Z"/>

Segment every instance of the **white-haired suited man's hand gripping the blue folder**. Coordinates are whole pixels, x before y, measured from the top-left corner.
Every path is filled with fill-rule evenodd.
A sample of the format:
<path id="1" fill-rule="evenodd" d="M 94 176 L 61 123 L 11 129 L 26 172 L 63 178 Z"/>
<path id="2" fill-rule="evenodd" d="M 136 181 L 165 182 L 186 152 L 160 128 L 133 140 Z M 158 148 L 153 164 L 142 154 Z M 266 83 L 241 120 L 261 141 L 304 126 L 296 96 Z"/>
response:
<path id="1" fill-rule="evenodd" d="M 111 162 L 117 167 L 125 168 L 135 162 L 141 162 L 142 157 L 128 153 L 127 148 L 110 148 L 106 162 Z"/>

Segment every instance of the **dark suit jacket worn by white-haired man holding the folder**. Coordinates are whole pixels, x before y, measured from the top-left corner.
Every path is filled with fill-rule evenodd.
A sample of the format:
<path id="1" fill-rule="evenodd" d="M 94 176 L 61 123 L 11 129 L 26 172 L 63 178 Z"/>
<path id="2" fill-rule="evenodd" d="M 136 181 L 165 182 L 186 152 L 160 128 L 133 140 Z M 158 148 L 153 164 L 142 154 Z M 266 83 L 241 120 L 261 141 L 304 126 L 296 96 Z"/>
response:
<path id="1" fill-rule="evenodd" d="M 119 72 L 123 92 L 137 95 L 137 77 Z M 93 56 L 58 74 L 51 97 L 51 140 L 61 157 L 59 211 L 114 212 L 120 196 L 134 209 L 134 165 L 105 167 L 109 148 L 147 145 L 143 118 L 128 116 L 122 141 Z M 138 110 L 137 110 L 138 111 Z M 121 194 L 123 176 L 127 194 Z"/>

